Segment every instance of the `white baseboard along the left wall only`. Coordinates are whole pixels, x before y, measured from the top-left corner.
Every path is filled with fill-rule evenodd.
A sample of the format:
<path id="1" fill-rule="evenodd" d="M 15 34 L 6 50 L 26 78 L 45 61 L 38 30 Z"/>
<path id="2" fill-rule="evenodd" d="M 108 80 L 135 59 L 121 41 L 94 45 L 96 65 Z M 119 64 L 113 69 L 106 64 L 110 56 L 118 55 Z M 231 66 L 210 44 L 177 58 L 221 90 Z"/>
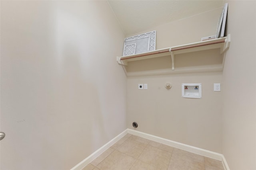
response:
<path id="1" fill-rule="evenodd" d="M 108 148 L 110 148 L 114 143 L 119 141 L 124 135 L 128 133 L 128 129 L 114 137 L 111 141 L 103 145 L 100 149 L 96 150 L 90 156 L 82 160 L 80 163 L 78 163 L 76 166 L 74 166 L 71 170 L 81 170 L 86 165 L 88 165 L 90 162 L 92 162 L 95 158 L 97 158 L 100 154 L 102 154 L 104 151 L 106 151 Z"/>

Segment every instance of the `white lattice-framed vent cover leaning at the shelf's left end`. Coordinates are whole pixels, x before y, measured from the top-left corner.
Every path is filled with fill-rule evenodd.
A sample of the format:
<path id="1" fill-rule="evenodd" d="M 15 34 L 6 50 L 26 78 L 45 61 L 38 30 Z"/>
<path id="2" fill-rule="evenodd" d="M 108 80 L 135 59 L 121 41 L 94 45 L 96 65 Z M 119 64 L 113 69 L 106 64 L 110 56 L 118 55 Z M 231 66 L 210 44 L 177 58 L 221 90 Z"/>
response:
<path id="1" fill-rule="evenodd" d="M 124 39 L 123 56 L 156 50 L 156 31 L 135 35 Z"/>

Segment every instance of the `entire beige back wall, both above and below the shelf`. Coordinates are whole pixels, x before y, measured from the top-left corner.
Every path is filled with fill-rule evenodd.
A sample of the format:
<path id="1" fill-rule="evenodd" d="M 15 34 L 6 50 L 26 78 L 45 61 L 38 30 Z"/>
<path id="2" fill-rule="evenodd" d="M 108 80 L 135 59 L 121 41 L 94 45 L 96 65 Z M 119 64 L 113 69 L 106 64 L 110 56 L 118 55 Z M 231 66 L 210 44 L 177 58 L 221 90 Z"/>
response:
<path id="1" fill-rule="evenodd" d="M 218 8 L 147 31 L 156 30 L 157 49 L 201 41 L 215 34 L 221 11 Z M 175 71 L 183 70 L 181 74 L 162 74 L 171 69 L 170 57 L 129 62 L 126 70 L 134 76 L 127 82 L 128 128 L 133 129 L 136 121 L 138 131 L 221 153 L 222 92 L 214 92 L 213 84 L 222 83 L 222 72 L 193 72 L 216 64 L 222 65 L 219 50 L 176 55 Z M 149 75 L 154 72 L 159 75 Z M 138 76 L 144 73 L 148 76 Z M 166 82 L 172 83 L 170 90 L 164 87 Z M 138 90 L 139 83 L 148 84 L 148 90 Z M 202 83 L 202 99 L 182 98 L 182 83 Z"/>

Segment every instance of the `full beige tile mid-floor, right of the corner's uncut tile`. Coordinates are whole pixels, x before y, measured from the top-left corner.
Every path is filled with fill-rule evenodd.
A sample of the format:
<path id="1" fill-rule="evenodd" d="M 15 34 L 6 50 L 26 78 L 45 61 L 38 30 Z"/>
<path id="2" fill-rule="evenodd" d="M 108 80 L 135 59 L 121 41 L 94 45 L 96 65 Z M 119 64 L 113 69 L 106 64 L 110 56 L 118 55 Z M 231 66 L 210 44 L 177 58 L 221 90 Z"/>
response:
<path id="1" fill-rule="evenodd" d="M 138 160 L 154 166 L 154 168 L 167 169 L 172 153 L 148 145 Z"/>

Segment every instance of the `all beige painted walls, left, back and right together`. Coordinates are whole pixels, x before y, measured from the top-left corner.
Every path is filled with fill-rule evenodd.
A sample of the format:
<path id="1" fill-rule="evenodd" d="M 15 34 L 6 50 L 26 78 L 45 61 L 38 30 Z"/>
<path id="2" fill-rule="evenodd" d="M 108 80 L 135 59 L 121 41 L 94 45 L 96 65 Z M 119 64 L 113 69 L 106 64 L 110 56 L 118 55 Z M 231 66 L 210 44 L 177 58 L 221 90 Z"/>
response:
<path id="1" fill-rule="evenodd" d="M 202 51 L 176 56 L 181 74 L 162 74 L 170 57 L 130 62 L 126 84 L 115 61 L 124 33 L 107 2 L 1 1 L 0 168 L 70 169 L 136 121 L 139 131 L 223 153 L 232 170 L 256 169 L 256 3 L 228 3 L 223 73 L 193 72 L 222 64 L 218 51 Z M 157 49 L 200 41 L 221 10 L 143 32 L 157 31 Z M 181 98 L 190 82 L 202 83 L 202 99 Z"/>

